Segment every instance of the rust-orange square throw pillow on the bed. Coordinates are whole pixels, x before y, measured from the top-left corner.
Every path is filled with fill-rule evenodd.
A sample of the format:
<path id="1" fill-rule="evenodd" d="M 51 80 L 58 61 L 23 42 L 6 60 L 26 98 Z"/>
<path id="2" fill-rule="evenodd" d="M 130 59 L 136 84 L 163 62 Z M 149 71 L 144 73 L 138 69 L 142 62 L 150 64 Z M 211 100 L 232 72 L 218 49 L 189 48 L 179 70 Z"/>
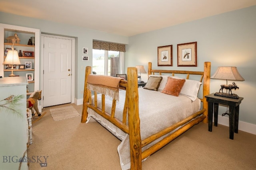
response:
<path id="1" fill-rule="evenodd" d="M 162 90 L 162 93 L 170 94 L 172 96 L 179 96 L 180 90 L 182 89 L 185 81 L 185 79 L 168 77 L 167 83 Z"/>

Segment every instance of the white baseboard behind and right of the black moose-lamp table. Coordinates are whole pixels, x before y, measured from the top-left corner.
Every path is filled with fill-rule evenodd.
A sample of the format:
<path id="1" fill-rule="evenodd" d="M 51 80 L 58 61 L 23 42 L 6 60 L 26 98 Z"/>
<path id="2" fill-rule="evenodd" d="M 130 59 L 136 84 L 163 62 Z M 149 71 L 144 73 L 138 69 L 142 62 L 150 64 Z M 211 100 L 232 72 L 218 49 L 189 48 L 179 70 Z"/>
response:
<path id="1" fill-rule="evenodd" d="M 229 118 L 218 115 L 218 124 L 229 127 Z M 256 125 L 244 121 L 238 121 L 238 130 L 256 135 Z"/>

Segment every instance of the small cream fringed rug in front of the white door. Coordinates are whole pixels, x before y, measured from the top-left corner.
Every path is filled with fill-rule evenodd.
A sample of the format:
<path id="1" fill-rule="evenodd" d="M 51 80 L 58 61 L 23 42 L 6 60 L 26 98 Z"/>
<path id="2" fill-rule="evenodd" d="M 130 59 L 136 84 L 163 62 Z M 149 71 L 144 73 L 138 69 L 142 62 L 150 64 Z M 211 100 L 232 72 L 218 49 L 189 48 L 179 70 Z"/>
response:
<path id="1" fill-rule="evenodd" d="M 76 111 L 76 109 L 73 106 L 50 109 L 50 113 L 54 121 L 59 121 L 59 120 L 79 116 L 79 113 Z"/>

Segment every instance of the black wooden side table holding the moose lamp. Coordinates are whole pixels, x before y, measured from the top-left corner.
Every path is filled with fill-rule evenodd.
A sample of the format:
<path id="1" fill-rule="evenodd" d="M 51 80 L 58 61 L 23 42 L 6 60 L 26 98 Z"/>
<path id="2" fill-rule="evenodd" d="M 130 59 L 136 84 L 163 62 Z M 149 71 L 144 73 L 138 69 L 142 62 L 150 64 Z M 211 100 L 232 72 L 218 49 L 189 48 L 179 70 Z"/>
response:
<path id="1" fill-rule="evenodd" d="M 212 115 L 214 108 L 214 126 L 218 126 L 218 109 L 219 104 L 229 106 L 229 139 L 234 139 L 234 132 L 238 133 L 238 118 L 239 118 L 239 105 L 244 98 L 226 98 L 221 96 L 214 96 L 214 93 L 206 97 L 208 102 L 208 131 L 212 131 Z"/>

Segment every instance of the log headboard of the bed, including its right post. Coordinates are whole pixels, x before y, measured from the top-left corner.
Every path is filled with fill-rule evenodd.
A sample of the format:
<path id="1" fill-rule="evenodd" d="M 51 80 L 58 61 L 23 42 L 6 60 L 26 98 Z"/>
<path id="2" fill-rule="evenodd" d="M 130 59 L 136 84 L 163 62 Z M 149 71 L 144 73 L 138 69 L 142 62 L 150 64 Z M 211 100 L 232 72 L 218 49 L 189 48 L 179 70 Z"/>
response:
<path id="1" fill-rule="evenodd" d="M 206 115 L 206 119 L 204 119 L 204 123 L 208 122 L 208 103 L 206 101 L 206 98 L 204 96 L 210 94 L 210 70 L 211 70 L 211 63 L 210 62 L 204 62 L 204 71 L 188 71 L 188 70 L 153 70 L 152 69 L 152 63 L 148 63 L 148 75 L 151 74 L 166 74 L 170 76 L 176 76 L 176 74 L 185 74 L 186 79 L 190 78 L 190 75 L 198 75 L 200 76 L 200 82 L 203 84 L 203 96 L 200 98 L 201 102 L 203 102 L 203 108 L 206 109 L 204 112 L 204 115 Z"/>

